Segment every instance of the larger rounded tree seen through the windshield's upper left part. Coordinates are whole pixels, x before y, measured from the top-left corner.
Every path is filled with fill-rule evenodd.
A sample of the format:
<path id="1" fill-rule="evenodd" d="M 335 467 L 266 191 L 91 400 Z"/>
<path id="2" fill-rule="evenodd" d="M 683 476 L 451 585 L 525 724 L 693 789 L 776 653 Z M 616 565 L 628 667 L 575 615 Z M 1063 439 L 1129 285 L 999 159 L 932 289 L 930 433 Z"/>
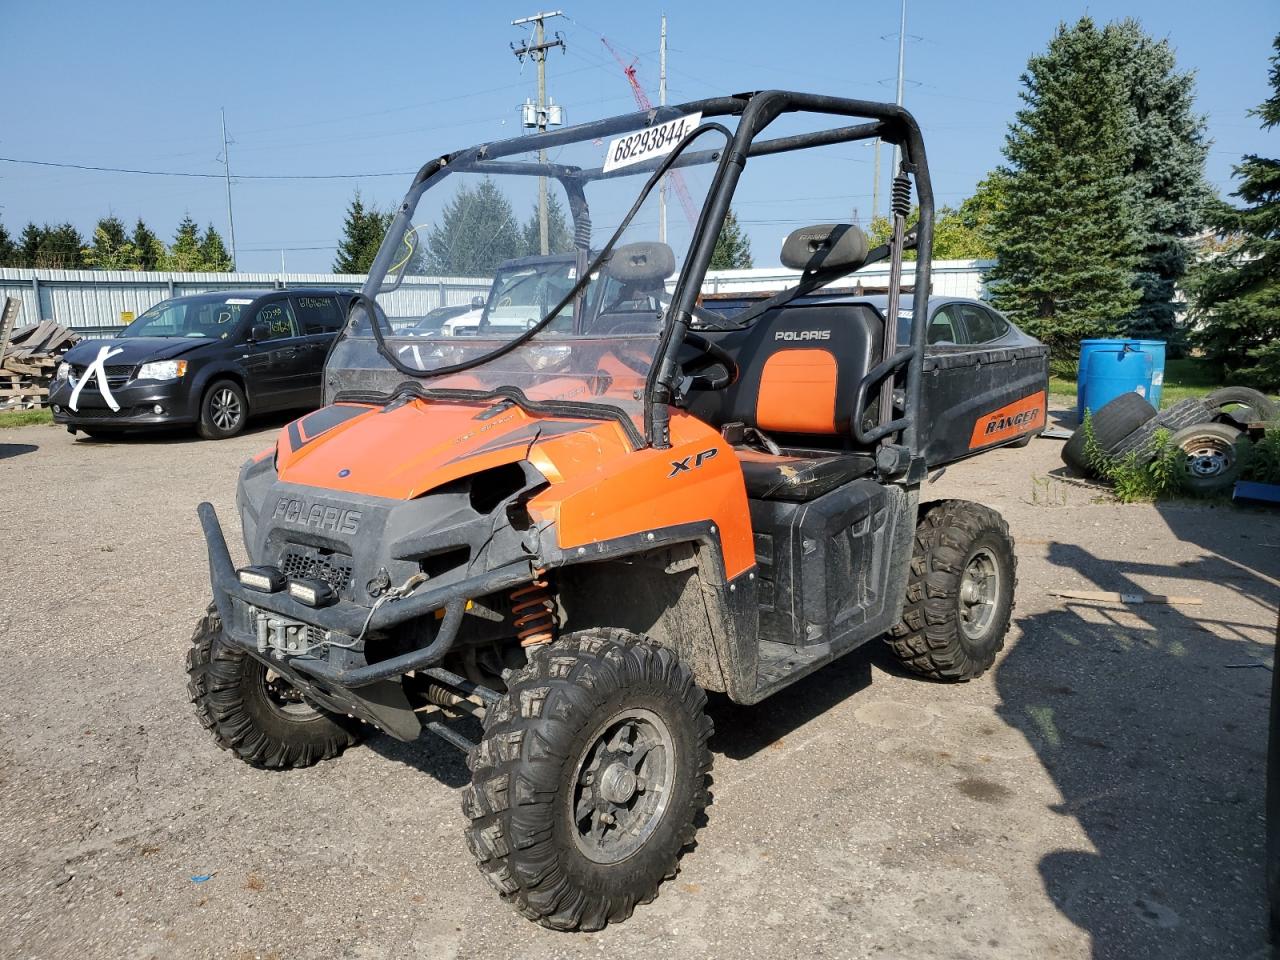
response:
<path id="1" fill-rule="evenodd" d="M 489 177 L 462 186 L 445 204 L 426 238 L 425 266 L 444 276 L 492 276 L 498 264 L 518 257 L 525 241 L 502 189 Z"/>

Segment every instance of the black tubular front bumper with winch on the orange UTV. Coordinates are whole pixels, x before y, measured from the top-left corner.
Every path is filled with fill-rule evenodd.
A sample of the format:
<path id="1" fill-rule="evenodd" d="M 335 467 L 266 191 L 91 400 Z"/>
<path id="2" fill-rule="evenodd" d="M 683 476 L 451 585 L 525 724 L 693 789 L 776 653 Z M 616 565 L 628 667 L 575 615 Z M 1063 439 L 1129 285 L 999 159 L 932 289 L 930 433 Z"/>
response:
<path id="1" fill-rule="evenodd" d="M 201 503 L 197 513 L 209 547 L 210 582 L 223 639 L 282 673 L 321 707 L 360 717 L 403 740 L 416 737 L 420 727 L 398 678 L 410 671 L 434 668 L 444 659 L 457 639 L 467 599 L 532 577 L 532 566 L 526 561 L 435 589 L 424 585 L 408 596 L 371 607 L 352 600 L 307 607 L 283 590 L 262 593 L 243 586 L 212 504 Z M 436 611 L 443 611 L 439 620 L 431 616 Z M 426 646 L 367 662 L 366 634 L 424 617 L 435 623 Z M 291 652 L 274 641 L 284 627 L 298 627 L 294 635 L 301 637 L 301 649 Z"/>

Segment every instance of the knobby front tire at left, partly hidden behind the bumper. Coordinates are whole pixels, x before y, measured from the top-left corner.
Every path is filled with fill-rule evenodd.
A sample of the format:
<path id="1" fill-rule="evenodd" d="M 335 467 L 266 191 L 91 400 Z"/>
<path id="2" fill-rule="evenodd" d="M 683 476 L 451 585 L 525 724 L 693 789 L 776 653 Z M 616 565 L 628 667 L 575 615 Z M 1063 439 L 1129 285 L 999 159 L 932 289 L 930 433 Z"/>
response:
<path id="1" fill-rule="evenodd" d="M 338 756 L 364 739 L 365 726 L 317 710 L 314 718 L 285 721 L 255 696 L 262 666 L 221 643 L 223 626 L 212 605 L 196 623 L 187 650 L 187 692 L 196 717 L 214 741 L 252 767 L 297 769 Z"/>

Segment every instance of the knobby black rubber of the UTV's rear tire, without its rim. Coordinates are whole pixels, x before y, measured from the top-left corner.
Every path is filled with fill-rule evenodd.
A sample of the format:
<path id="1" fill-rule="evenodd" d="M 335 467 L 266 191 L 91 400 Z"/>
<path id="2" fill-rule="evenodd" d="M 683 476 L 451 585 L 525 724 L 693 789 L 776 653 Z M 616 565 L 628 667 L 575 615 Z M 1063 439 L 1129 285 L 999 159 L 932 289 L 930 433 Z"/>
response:
<path id="1" fill-rule="evenodd" d="M 938 500 L 922 509 L 902 618 L 886 640 L 913 673 L 940 681 L 973 680 L 1005 645 L 1018 588 L 1014 539 L 1005 518 L 980 503 Z M 960 628 L 959 591 L 965 563 L 979 545 L 1004 566 L 1005 589 L 987 635 L 974 641 Z"/>

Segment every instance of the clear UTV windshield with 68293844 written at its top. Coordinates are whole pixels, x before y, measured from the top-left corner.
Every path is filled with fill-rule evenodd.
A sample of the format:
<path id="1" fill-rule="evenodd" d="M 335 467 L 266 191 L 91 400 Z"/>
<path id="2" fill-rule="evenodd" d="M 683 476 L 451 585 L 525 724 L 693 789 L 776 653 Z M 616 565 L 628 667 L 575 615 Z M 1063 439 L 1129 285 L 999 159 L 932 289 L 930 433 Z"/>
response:
<path id="1" fill-rule="evenodd" d="M 544 160 L 468 151 L 411 191 L 365 288 L 381 344 L 357 310 L 329 361 L 328 399 L 408 384 L 424 396 L 607 407 L 639 422 L 669 291 L 724 145 L 723 131 L 695 134 L 696 116 L 672 116 L 669 140 L 653 133 L 635 161 L 620 147 L 625 132 L 561 143 Z M 680 168 L 658 177 L 673 150 Z"/>

